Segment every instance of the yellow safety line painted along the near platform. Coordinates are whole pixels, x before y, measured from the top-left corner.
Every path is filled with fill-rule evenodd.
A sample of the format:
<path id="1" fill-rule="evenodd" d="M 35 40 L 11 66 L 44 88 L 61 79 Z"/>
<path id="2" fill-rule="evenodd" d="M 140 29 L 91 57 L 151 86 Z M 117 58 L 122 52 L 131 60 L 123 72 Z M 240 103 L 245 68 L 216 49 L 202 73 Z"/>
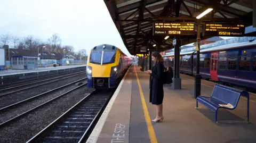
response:
<path id="1" fill-rule="evenodd" d="M 139 86 L 141 104 L 142 104 L 142 107 L 143 107 L 143 112 L 144 112 L 145 120 L 146 120 L 146 123 L 147 123 L 149 139 L 150 139 L 151 143 L 157 143 L 156 134 L 155 134 L 153 125 L 152 125 L 151 120 L 150 120 L 150 116 L 149 116 L 149 113 L 148 113 L 148 107 L 147 107 L 145 97 L 143 95 L 143 92 L 142 92 L 142 89 L 141 89 L 141 86 L 140 86 L 140 81 L 139 81 L 139 78 L 138 78 L 138 74 L 137 74 L 135 65 L 134 65 L 134 70 L 135 70 L 135 74 L 136 74 L 137 82 L 138 82 L 138 86 Z"/>

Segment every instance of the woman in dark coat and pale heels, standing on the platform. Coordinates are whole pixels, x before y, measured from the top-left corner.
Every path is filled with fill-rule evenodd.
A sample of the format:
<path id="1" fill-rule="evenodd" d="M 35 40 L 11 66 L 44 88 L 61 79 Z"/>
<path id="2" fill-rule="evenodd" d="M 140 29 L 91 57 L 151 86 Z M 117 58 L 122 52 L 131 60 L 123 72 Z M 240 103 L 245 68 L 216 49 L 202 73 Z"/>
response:
<path id="1" fill-rule="evenodd" d="M 162 121 L 163 116 L 163 98 L 164 98 L 164 87 L 163 87 L 163 74 L 164 74 L 164 63 L 163 57 L 158 52 L 152 53 L 152 61 L 155 62 L 152 71 L 148 70 L 150 74 L 150 103 L 156 105 L 156 118 L 151 120 L 153 122 Z"/>

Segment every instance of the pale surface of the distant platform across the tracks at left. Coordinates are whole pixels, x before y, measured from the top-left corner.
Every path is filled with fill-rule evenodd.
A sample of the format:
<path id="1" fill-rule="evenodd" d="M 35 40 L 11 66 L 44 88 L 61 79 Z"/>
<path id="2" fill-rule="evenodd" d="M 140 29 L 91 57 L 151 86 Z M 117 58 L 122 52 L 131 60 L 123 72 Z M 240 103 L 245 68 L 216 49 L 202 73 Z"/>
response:
<path id="1" fill-rule="evenodd" d="M 63 70 L 63 69 L 70 69 L 70 68 L 78 68 L 86 66 L 86 64 L 81 65 L 63 65 L 63 66 L 49 66 L 47 68 L 38 68 L 38 69 L 31 69 L 31 70 L 8 70 L 8 71 L 0 71 L 0 76 L 6 75 L 15 75 L 15 74 L 26 74 L 26 73 L 33 73 L 33 72 L 44 72 L 44 71 L 54 71 L 54 70 Z"/>

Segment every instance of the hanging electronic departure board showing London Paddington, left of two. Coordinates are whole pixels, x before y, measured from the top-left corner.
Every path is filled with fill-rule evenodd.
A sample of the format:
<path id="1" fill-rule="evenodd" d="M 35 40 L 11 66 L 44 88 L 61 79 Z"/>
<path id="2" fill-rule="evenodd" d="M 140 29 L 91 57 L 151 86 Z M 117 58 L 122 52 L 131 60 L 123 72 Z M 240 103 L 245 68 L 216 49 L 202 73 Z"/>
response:
<path id="1" fill-rule="evenodd" d="M 195 22 L 154 22 L 153 35 L 195 35 Z"/>

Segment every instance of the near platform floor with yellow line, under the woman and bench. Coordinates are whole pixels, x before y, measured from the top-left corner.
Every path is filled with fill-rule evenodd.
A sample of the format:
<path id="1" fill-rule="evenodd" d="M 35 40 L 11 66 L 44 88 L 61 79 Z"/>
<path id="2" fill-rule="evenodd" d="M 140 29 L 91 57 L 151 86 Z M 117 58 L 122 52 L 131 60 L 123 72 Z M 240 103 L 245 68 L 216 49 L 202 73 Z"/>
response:
<path id="1" fill-rule="evenodd" d="M 149 103 L 149 74 L 132 65 L 110 99 L 87 143 L 105 142 L 256 142 L 255 95 L 250 100 L 250 122 L 215 123 L 214 113 L 198 103 L 194 78 L 180 74 L 182 89 L 164 86 L 162 122 Z M 210 96 L 214 83 L 202 80 L 201 95 Z M 241 98 L 234 111 L 218 111 L 218 120 L 245 120 L 247 99 Z"/>

